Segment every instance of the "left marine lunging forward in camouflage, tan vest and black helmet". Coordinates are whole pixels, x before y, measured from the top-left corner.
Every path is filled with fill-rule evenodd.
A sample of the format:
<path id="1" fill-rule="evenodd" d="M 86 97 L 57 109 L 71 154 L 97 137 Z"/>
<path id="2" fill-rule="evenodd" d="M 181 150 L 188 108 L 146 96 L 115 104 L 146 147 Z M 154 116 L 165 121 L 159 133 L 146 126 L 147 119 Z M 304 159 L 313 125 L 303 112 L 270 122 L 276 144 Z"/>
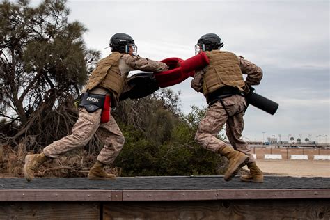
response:
<path id="1" fill-rule="evenodd" d="M 161 72 L 168 70 L 165 63 L 132 55 L 136 52 L 136 46 L 134 40 L 125 33 L 116 33 L 110 40 L 110 47 L 112 53 L 97 63 L 85 88 L 88 93 L 110 95 L 111 107 L 116 107 L 118 104 L 119 96 L 126 86 L 129 71 Z M 41 154 L 26 156 L 24 165 L 26 180 L 31 181 L 36 169 L 47 159 L 54 159 L 65 152 L 85 146 L 95 133 L 100 136 L 104 146 L 97 156 L 97 162 L 89 171 L 88 178 L 91 180 L 115 180 L 116 175 L 106 173 L 103 167 L 113 163 L 123 148 L 125 139 L 116 120 L 111 115 L 106 123 L 101 123 L 101 116 L 102 109 L 90 113 L 85 108 L 79 108 L 79 118 L 72 128 L 72 134 L 54 141 L 45 147 Z"/>

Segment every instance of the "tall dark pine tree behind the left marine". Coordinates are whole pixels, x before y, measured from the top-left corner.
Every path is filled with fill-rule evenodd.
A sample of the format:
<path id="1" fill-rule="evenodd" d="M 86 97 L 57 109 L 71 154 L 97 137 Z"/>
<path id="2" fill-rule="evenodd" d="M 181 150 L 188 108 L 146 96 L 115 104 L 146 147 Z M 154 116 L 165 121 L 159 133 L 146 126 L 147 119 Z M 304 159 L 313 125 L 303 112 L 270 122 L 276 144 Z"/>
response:
<path id="1" fill-rule="evenodd" d="M 0 116 L 15 124 L 14 140 L 45 131 L 48 114 L 80 93 L 100 57 L 86 48 L 86 28 L 68 22 L 65 3 L 0 3 Z"/>

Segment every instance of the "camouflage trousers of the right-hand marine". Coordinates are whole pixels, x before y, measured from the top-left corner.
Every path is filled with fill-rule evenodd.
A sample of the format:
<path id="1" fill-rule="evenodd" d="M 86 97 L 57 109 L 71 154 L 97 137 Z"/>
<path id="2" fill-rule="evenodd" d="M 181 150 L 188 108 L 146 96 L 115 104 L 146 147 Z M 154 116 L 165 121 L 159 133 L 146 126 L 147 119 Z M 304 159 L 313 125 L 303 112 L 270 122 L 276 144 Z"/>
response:
<path id="1" fill-rule="evenodd" d="M 232 95 L 223 98 L 223 104 L 226 109 L 223 108 L 221 102 L 216 102 L 207 109 L 204 118 L 198 126 L 195 140 L 203 148 L 218 152 L 218 150 L 226 146 L 226 143 L 217 139 L 217 134 L 219 134 L 226 123 L 226 134 L 233 148 L 248 155 L 250 162 L 254 162 L 255 159 L 251 154 L 251 149 L 241 139 L 244 129 L 244 109 L 246 108 L 244 97 Z"/>

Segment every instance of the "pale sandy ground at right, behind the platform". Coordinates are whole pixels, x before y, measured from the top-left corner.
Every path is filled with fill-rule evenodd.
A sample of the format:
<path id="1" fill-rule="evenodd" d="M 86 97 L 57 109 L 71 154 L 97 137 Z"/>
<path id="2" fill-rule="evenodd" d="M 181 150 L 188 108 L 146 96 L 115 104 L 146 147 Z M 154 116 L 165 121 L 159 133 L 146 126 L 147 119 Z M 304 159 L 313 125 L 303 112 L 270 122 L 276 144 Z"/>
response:
<path id="1" fill-rule="evenodd" d="M 329 160 L 257 159 L 256 162 L 265 175 L 330 178 Z"/>

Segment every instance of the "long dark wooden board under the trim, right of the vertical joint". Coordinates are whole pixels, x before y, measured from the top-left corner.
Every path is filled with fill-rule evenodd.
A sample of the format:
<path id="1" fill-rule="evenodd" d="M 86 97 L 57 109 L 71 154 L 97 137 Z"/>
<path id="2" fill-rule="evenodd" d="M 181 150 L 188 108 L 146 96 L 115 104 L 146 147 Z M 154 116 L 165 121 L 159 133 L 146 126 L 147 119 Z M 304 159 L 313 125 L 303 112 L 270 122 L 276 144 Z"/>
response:
<path id="1" fill-rule="evenodd" d="M 329 199 L 104 203 L 103 219 L 330 219 Z"/>

